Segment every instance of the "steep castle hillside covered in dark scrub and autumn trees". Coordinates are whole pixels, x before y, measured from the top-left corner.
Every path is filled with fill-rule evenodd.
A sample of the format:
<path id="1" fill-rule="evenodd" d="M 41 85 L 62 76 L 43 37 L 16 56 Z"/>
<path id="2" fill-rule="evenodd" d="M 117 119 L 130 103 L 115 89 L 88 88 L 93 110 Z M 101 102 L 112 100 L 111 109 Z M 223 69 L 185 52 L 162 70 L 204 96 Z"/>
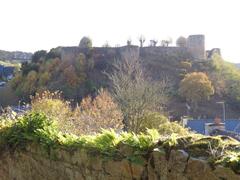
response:
<path id="1" fill-rule="evenodd" d="M 239 70 L 218 54 L 213 54 L 208 60 L 199 60 L 185 49 L 176 47 L 58 47 L 50 52 L 38 51 L 32 63 L 22 65 L 22 72 L 11 85 L 19 97 L 25 97 L 25 101 L 29 100 L 29 95 L 49 89 L 60 90 L 66 99 L 79 102 L 89 94 L 96 95 L 100 87 L 108 88 L 110 82 L 103 72 L 111 72 L 114 60 L 122 59 L 129 53 L 140 59 L 151 79 L 158 81 L 167 77 L 171 90 L 164 111 L 172 119 L 180 119 L 184 115 L 194 118 L 221 117 L 222 106 L 216 103 L 218 101 L 225 102 L 226 118 L 240 117 Z M 179 95 L 178 89 L 185 75 L 192 72 L 206 73 L 215 93 L 209 100 L 199 102 L 197 110 L 190 105 L 188 111 L 186 100 Z"/>

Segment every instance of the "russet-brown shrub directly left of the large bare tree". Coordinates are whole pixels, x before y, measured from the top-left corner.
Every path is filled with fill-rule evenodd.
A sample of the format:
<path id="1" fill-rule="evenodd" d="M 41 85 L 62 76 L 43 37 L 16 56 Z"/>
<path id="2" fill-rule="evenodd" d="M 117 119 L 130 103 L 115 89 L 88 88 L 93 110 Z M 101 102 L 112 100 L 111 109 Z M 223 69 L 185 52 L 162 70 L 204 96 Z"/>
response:
<path id="1" fill-rule="evenodd" d="M 73 114 L 73 120 L 78 129 L 77 134 L 100 132 L 101 129 L 109 128 L 119 131 L 123 127 L 121 111 L 110 94 L 103 89 L 94 99 L 84 98 Z"/>

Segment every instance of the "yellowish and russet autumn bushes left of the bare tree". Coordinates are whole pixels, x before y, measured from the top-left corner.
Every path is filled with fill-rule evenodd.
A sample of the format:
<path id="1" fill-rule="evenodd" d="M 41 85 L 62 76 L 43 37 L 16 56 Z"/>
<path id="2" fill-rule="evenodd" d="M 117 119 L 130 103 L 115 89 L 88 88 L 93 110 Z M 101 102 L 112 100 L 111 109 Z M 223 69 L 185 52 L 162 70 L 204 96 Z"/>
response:
<path id="1" fill-rule="evenodd" d="M 61 98 L 60 92 L 36 94 L 31 103 L 32 111 L 45 113 L 55 119 L 62 132 L 92 134 L 110 128 L 120 131 L 123 127 L 121 111 L 104 90 L 100 90 L 94 99 L 84 98 L 75 109 Z"/>

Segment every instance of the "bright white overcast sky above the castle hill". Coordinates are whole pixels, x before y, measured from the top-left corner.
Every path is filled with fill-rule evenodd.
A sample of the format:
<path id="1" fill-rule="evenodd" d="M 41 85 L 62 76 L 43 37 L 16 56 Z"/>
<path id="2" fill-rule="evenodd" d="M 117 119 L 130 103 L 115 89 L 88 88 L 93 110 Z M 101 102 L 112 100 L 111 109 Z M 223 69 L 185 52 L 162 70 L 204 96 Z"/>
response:
<path id="1" fill-rule="evenodd" d="M 239 0 L 0 0 L 0 49 L 34 52 L 204 34 L 206 49 L 221 48 L 240 63 Z M 145 43 L 148 45 L 149 43 Z"/>

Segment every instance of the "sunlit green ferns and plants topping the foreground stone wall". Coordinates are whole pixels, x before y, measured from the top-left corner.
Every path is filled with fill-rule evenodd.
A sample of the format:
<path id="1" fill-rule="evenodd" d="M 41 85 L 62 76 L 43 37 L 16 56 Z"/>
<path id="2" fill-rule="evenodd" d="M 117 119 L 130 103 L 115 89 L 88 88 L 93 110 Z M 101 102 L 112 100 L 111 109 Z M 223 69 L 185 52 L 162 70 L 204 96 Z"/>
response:
<path id="1" fill-rule="evenodd" d="M 1 120 L 1 119 L 0 119 Z M 126 158 L 141 163 L 153 149 L 182 149 L 192 157 L 201 157 L 213 166 L 223 165 L 240 173 L 240 143 L 230 137 L 208 137 L 198 134 L 188 136 L 161 136 L 149 129 L 144 134 L 103 130 L 96 135 L 76 136 L 58 131 L 54 120 L 42 113 L 30 112 L 16 121 L 0 121 L 0 150 L 25 149 L 28 144 L 40 144 L 47 152 L 51 149 L 67 151 L 86 149 L 107 157 Z"/>

